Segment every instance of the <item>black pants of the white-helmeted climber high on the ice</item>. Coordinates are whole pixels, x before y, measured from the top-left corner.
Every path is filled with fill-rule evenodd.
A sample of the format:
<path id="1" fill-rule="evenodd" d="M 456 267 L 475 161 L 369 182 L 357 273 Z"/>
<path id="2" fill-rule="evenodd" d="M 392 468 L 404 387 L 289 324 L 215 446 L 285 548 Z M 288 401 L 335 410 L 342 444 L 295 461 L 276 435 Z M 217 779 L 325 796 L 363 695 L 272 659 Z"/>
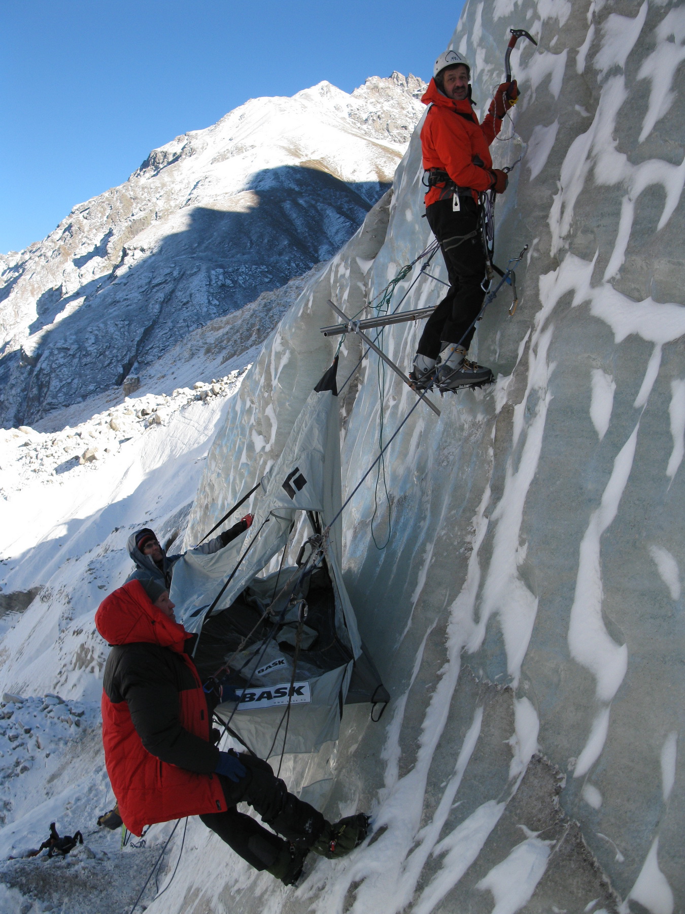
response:
<path id="1" fill-rule="evenodd" d="M 437 358 L 440 342 L 461 343 L 469 348 L 476 332 L 469 329 L 485 298 L 481 283 L 485 278 L 485 250 L 479 226 L 479 207 L 471 197 L 459 197 L 461 209 L 455 213 L 451 197 L 438 200 L 426 209 L 428 225 L 440 243 L 448 268 L 449 291 L 427 320 L 417 352 Z M 465 238 L 470 236 L 470 238 Z"/>

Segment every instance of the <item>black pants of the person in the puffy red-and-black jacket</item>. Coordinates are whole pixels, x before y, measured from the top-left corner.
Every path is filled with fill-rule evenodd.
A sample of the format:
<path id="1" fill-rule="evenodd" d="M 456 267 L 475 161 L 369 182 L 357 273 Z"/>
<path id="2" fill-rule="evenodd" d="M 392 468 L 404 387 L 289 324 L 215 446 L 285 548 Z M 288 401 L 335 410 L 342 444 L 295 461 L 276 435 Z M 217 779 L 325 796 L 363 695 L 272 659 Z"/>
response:
<path id="1" fill-rule="evenodd" d="M 285 844 L 278 834 L 262 828 L 236 805 L 247 802 L 274 832 L 283 835 L 290 844 L 311 847 L 321 834 L 326 820 L 309 803 L 299 800 L 271 771 L 268 762 L 241 753 L 240 761 L 248 769 L 244 778 L 235 783 L 222 775 L 221 781 L 228 804 L 226 813 L 205 813 L 200 818 L 239 856 L 255 869 L 272 866 Z"/>

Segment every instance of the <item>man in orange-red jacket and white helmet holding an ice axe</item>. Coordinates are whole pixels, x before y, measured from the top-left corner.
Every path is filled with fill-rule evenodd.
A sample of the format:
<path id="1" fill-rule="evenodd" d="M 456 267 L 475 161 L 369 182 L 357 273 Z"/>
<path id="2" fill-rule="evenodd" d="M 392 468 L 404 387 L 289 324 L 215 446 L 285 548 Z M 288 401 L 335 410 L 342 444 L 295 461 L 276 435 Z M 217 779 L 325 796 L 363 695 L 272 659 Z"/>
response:
<path id="1" fill-rule="evenodd" d="M 490 368 L 466 358 L 485 297 L 486 254 L 480 231 L 479 193 L 501 194 L 507 175 L 492 167 L 490 143 L 501 119 L 518 97 L 516 80 L 502 83 L 479 124 L 473 112 L 470 68 L 457 51 L 435 64 L 421 101 L 430 105 L 421 129 L 423 165 L 428 175 L 426 218 L 448 268 L 449 291 L 427 320 L 410 377 L 416 387 L 431 380 L 444 389 L 480 386 L 492 380 Z"/>

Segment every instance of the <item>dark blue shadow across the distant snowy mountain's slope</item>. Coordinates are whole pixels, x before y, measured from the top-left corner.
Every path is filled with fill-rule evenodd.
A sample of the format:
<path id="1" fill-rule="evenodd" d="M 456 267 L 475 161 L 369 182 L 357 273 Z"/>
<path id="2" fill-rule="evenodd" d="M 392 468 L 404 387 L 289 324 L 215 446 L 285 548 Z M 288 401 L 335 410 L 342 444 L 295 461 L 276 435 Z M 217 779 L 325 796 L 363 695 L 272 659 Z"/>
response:
<path id="1" fill-rule="evenodd" d="M 0 350 L 2 425 L 30 424 L 121 385 L 197 327 L 329 260 L 388 186 L 281 166 L 252 175 L 216 208 L 178 210 L 170 221 L 185 216 L 185 225 L 159 243 L 141 228 L 110 273 L 64 296 L 61 286 L 43 292 L 25 345 Z M 100 242 L 73 262 L 104 252 Z"/>

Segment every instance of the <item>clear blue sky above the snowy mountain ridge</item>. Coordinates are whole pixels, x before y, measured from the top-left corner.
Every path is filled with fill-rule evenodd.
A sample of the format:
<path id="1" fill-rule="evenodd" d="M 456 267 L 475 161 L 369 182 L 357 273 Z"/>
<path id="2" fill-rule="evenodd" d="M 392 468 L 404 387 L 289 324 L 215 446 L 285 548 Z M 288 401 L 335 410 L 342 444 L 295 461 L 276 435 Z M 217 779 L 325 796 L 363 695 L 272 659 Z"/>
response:
<path id="1" fill-rule="evenodd" d="M 0 251 L 249 98 L 394 69 L 427 79 L 461 5 L 0 0 Z"/>

